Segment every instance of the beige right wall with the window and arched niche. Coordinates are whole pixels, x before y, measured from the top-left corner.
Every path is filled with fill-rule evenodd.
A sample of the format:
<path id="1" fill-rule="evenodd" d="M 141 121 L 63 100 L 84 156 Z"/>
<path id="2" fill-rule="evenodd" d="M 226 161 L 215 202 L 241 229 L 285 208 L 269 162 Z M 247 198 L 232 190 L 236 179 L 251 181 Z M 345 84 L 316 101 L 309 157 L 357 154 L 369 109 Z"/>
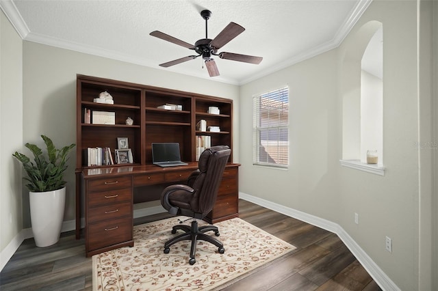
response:
<path id="1" fill-rule="evenodd" d="M 346 66 L 344 56 L 355 47 L 359 29 L 372 20 L 383 23 L 385 176 L 339 165 L 343 98 L 360 92 L 360 71 Z M 424 95 L 418 92 L 417 57 L 417 2 L 377 0 L 339 48 L 240 88 L 240 191 L 339 224 L 402 290 L 430 290 L 432 279 L 431 210 L 420 208 L 420 199 L 432 197 L 430 189 L 420 191 L 420 175 L 430 184 L 431 169 L 419 170 L 424 153 L 415 146 L 419 120 L 430 130 L 432 119 L 418 114 Z M 343 77 L 357 72 L 357 83 L 343 84 Z M 289 169 L 254 166 L 252 96 L 283 85 L 289 85 L 290 96 Z M 429 232 L 424 238 L 419 238 L 420 224 Z M 385 236 L 392 238 L 392 253 L 385 250 Z"/>

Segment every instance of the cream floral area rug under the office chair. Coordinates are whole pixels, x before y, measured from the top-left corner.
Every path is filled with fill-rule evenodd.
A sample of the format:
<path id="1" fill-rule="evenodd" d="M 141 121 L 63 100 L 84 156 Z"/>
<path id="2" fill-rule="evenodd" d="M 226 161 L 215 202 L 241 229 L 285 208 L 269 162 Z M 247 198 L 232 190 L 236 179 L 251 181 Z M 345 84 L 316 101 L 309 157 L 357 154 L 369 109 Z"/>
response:
<path id="1" fill-rule="evenodd" d="M 179 217 L 187 219 L 187 217 Z M 239 218 L 215 223 L 217 238 L 225 252 L 198 240 L 196 263 L 190 265 L 190 240 L 170 247 L 178 217 L 137 225 L 133 229 L 134 247 L 122 247 L 92 257 L 93 291 L 103 290 L 212 290 L 296 249 L 293 245 L 260 230 Z M 186 221 L 190 225 L 190 221 Z M 205 225 L 205 221 L 198 221 Z M 214 232 L 207 232 L 214 236 Z"/>

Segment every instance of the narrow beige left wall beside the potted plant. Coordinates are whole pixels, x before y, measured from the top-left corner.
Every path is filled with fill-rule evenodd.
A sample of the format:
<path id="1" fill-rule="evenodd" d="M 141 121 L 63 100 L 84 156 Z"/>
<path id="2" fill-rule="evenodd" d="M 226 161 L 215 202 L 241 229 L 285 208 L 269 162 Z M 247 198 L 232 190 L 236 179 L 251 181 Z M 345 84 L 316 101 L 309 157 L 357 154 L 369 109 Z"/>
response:
<path id="1" fill-rule="evenodd" d="M 0 251 L 21 232 L 21 168 L 12 153 L 23 148 L 23 44 L 0 10 Z M 3 255 L 0 265 L 3 264 Z M 1 267 L 1 266 L 0 266 Z"/>

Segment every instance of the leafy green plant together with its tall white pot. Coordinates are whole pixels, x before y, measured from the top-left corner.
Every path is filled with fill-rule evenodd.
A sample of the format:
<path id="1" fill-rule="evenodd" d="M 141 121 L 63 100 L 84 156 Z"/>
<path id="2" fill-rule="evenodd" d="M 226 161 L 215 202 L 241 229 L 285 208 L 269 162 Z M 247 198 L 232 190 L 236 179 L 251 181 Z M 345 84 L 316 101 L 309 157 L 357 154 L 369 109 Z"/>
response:
<path id="1" fill-rule="evenodd" d="M 34 154 L 34 162 L 19 152 L 12 156 L 23 164 L 27 173 L 23 179 L 29 182 L 26 186 L 29 189 L 31 225 L 36 246 L 48 247 L 60 239 L 66 197 L 64 174 L 68 154 L 75 143 L 58 150 L 49 137 L 41 137 L 47 147 L 45 154 L 32 143 L 25 144 Z"/>

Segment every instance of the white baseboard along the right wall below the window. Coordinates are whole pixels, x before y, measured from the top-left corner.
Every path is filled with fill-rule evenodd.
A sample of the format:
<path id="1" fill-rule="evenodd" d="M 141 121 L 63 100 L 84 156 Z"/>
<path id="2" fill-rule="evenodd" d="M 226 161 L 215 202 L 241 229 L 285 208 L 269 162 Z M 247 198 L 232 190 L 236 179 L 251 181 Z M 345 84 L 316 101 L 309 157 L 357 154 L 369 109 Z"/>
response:
<path id="1" fill-rule="evenodd" d="M 363 268 L 365 268 L 365 270 L 370 274 L 372 279 L 374 279 L 378 286 L 382 288 L 382 290 L 400 290 L 400 288 L 398 288 L 398 286 L 396 286 L 396 284 L 391 279 L 389 279 L 389 277 L 387 277 L 387 275 L 370 258 L 370 256 L 365 253 L 365 251 L 363 251 L 363 249 L 361 249 L 359 245 L 357 245 L 355 240 L 353 240 L 351 236 L 337 223 L 333 223 L 326 219 L 315 217 L 314 215 L 307 214 L 293 208 L 285 207 L 281 204 L 276 204 L 274 202 L 270 202 L 268 200 L 261 199 L 259 197 L 255 197 L 246 193 L 239 192 L 239 198 L 269 208 L 276 212 L 280 212 L 289 217 L 294 217 L 295 219 L 299 219 L 300 221 L 305 221 L 306 223 L 310 223 L 311 225 L 321 227 L 324 230 L 328 230 L 329 232 L 337 234 L 337 236 L 339 236 L 339 238 L 346 245 L 346 247 L 350 249 L 351 253 L 355 255 Z"/>

